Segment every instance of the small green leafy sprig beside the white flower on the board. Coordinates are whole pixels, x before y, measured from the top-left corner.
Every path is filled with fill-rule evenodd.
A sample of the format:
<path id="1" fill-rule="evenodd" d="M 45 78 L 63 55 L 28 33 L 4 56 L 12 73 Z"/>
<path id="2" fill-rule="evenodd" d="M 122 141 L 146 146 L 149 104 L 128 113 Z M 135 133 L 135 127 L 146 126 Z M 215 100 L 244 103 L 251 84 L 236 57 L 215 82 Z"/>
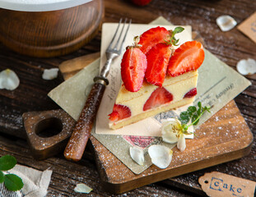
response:
<path id="1" fill-rule="evenodd" d="M 190 134 L 188 132 L 189 126 L 196 126 L 199 122 L 200 117 L 202 117 L 202 114 L 204 112 L 210 112 L 210 108 L 202 107 L 202 103 L 198 102 L 198 106 L 190 106 L 187 109 L 187 111 L 180 113 L 179 121 L 181 122 L 181 127 L 184 134 L 186 135 Z M 187 125 L 190 120 L 191 120 L 191 123 Z"/>

